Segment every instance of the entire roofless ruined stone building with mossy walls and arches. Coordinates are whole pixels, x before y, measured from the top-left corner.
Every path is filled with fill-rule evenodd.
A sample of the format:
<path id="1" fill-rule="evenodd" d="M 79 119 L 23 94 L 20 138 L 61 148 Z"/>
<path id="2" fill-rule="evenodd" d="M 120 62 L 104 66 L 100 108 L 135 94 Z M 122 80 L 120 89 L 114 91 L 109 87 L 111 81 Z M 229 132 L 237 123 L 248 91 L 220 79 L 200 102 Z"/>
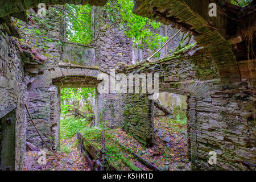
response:
<path id="1" fill-rule="evenodd" d="M 210 2 L 216 3 L 217 16 L 209 16 Z M 29 36 L 28 31 L 32 26 L 42 26 L 42 21 L 17 28 L 12 17 L 27 21 L 27 11 L 33 14 L 31 8 L 39 3 L 104 6 L 106 0 L 0 2 L 3 169 L 22 169 L 26 141 L 43 146 L 25 105 L 44 140 L 57 149 L 60 89 L 96 88 L 100 82 L 97 76 L 115 68 L 126 74 L 159 73 L 159 92 L 187 96 L 188 151 L 193 169 L 255 170 L 255 1 L 242 9 L 217 0 L 135 0 L 134 14 L 167 25 L 167 36 L 174 35 L 171 27 L 192 32 L 201 46 L 191 55 L 168 56 L 163 52 L 161 59 L 152 62 L 141 61 L 150 53 L 133 48 L 133 42 L 118 29 L 105 32 L 94 47 L 66 42 L 60 16 L 51 13 L 44 34 L 52 41 L 44 48 L 36 47 L 43 40 Z M 108 120 L 150 146 L 154 140 L 154 100 L 148 97 L 97 93 L 96 125 Z M 216 165 L 207 163 L 209 151 L 217 152 Z"/>

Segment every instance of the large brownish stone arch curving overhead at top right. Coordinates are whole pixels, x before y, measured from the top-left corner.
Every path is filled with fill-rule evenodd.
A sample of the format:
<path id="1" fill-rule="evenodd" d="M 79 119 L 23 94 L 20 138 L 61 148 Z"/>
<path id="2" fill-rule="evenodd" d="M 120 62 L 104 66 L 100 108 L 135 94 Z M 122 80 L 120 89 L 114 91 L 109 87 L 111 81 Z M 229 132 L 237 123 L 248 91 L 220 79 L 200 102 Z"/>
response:
<path id="1" fill-rule="evenodd" d="M 182 30 L 189 30 L 195 35 L 197 44 L 203 46 L 213 57 L 222 82 L 240 82 L 240 71 L 236 56 L 226 40 L 227 17 L 218 13 L 210 18 L 208 5 L 212 1 L 150 1 L 135 0 L 133 13 Z M 217 3 L 218 1 L 214 1 Z M 217 6 L 220 6 L 217 3 Z M 205 7 L 205 8 L 198 8 Z M 218 7 L 220 8 L 220 7 Z M 221 8 L 220 8 L 221 9 Z M 209 26 L 209 24 L 213 24 Z"/>

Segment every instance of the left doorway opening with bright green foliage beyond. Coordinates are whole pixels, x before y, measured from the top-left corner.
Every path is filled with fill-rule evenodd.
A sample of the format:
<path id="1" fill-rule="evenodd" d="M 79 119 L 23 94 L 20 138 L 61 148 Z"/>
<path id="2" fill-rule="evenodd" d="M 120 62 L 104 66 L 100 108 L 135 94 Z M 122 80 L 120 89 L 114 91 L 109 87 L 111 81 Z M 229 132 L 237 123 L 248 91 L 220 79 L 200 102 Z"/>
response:
<path id="1" fill-rule="evenodd" d="M 76 133 L 95 125 L 96 88 L 60 90 L 60 153 L 63 165 L 56 169 L 87 170 L 88 165 L 77 150 Z"/>

